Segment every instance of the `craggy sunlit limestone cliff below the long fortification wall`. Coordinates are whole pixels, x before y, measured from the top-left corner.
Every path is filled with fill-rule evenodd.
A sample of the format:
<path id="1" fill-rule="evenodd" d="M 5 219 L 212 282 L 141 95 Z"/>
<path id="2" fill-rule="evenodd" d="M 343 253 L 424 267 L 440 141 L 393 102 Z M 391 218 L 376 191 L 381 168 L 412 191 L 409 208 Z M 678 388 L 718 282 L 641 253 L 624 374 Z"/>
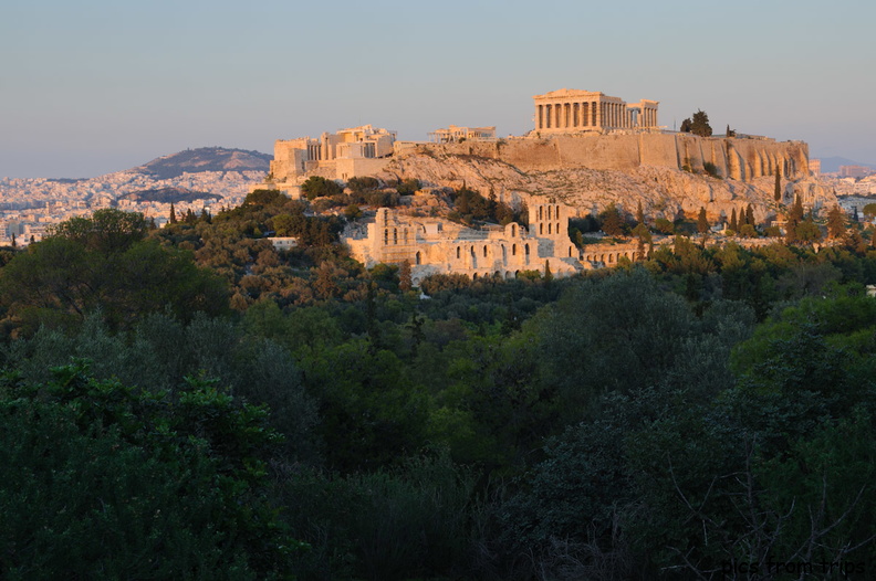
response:
<path id="1" fill-rule="evenodd" d="M 461 188 L 494 194 L 510 204 L 538 203 L 553 198 L 575 209 L 578 215 L 597 213 L 614 203 L 635 213 L 638 202 L 647 215 L 674 219 L 679 212 L 696 216 L 705 208 L 711 221 L 730 216 L 752 204 L 758 221 L 780 211 L 774 201 L 774 178 L 748 181 L 717 179 L 670 167 L 639 166 L 625 170 L 567 168 L 522 171 L 500 161 L 470 155 L 411 152 L 395 157 L 376 175 L 382 180 L 417 178 L 424 186 Z M 837 203 L 833 188 L 806 178 L 782 180 L 784 203 L 802 196 L 815 211 Z"/>

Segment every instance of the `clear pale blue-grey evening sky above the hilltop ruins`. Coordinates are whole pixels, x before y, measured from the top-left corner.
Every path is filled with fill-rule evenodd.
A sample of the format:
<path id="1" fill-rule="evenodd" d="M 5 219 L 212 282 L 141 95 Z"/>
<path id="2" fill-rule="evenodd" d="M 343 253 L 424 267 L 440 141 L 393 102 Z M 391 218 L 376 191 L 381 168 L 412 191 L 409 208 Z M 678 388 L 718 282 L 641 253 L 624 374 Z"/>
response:
<path id="1" fill-rule="evenodd" d="M 876 163 L 876 2 L 3 0 L 0 177 L 364 124 L 522 135 L 563 87 Z"/>

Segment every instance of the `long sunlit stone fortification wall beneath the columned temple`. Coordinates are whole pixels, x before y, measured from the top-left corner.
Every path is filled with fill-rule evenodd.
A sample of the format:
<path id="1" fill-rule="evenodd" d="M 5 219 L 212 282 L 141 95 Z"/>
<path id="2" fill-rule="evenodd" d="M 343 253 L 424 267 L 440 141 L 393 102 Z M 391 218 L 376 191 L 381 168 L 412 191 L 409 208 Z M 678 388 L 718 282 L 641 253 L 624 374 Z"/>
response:
<path id="1" fill-rule="evenodd" d="M 772 176 L 809 176 L 809 147 L 802 141 L 698 137 L 690 134 L 581 134 L 498 141 L 424 144 L 432 154 L 498 159 L 523 171 L 586 168 L 627 171 L 642 166 L 701 172 L 712 163 L 722 177 L 750 181 Z"/>

